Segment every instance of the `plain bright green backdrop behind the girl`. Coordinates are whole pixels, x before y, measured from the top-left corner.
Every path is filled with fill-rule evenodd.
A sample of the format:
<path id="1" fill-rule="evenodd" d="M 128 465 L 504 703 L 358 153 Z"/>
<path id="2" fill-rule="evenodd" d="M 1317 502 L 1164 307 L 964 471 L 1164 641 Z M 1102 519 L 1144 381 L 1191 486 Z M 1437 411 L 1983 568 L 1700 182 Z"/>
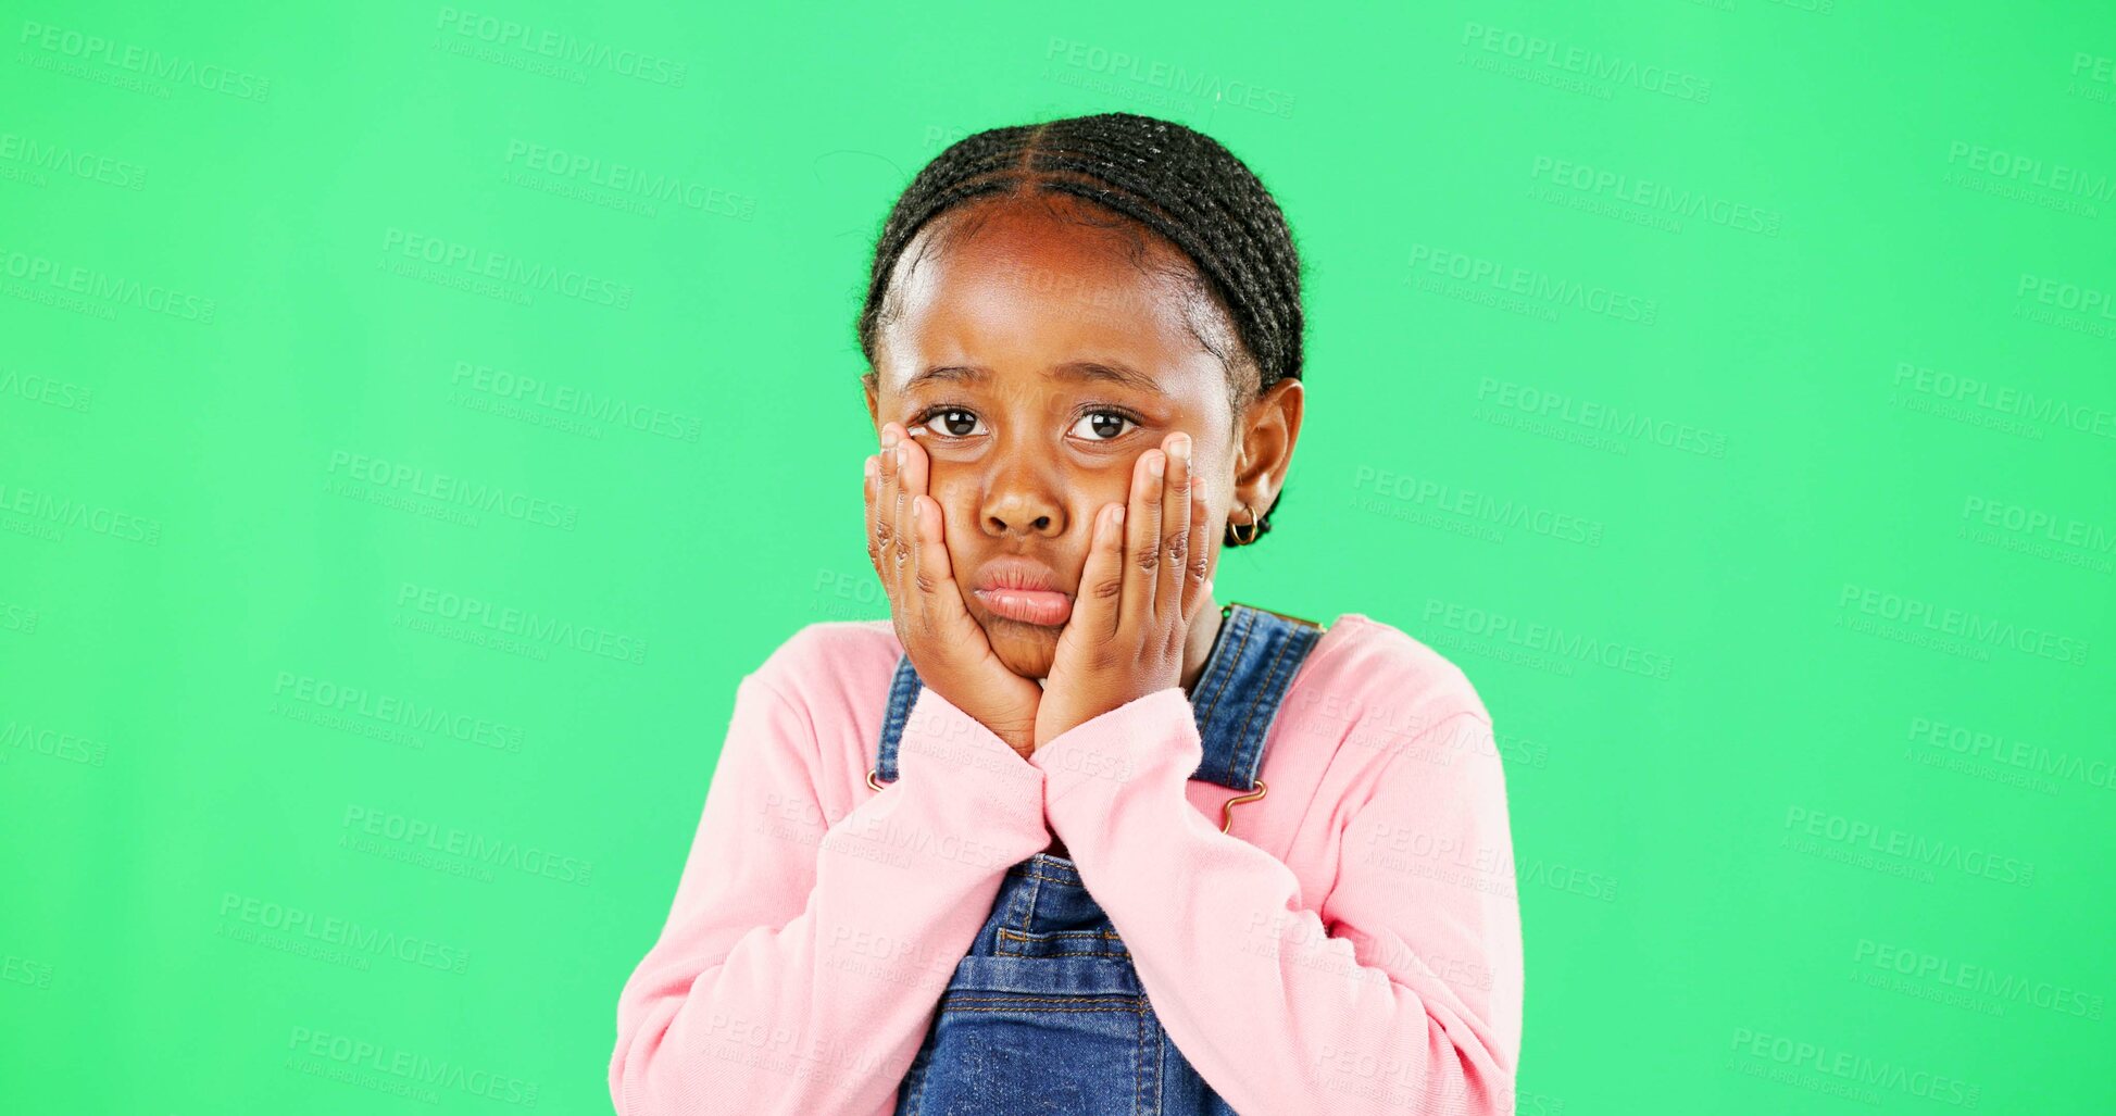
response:
<path id="1" fill-rule="evenodd" d="M 1595 8 L 11 6 L 4 1108 L 607 1112 L 736 680 L 884 614 L 882 216 L 1130 108 L 1308 263 L 1221 597 L 1496 718 L 1519 1110 L 2108 1112 L 2116 11 Z"/>

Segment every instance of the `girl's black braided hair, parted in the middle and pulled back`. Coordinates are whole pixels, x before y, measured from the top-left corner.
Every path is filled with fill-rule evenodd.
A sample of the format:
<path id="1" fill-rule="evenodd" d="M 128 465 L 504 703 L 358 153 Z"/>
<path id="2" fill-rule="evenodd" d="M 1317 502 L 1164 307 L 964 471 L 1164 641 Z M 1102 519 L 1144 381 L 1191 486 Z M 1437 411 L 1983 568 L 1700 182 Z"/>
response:
<path id="1" fill-rule="evenodd" d="M 1119 227 L 1136 222 L 1191 260 L 1196 271 L 1179 280 L 1227 313 L 1242 347 L 1212 349 L 1227 366 L 1236 421 L 1274 383 L 1301 377 L 1301 260 L 1278 201 L 1210 136 L 1132 112 L 995 127 L 935 155 L 906 186 L 874 246 L 857 324 L 870 368 L 876 339 L 897 313 L 889 277 L 918 231 L 975 199 L 1030 195 L 1092 201 L 1128 218 Z M 1134 246 L 1134 260 L 1143 260 L 1136 233 Z M 872 385 L 874 373 L 863 379 Z M 1278 498 L 1257 517 L 1257 538 L 1272 529 L 1276 508 Z"/>

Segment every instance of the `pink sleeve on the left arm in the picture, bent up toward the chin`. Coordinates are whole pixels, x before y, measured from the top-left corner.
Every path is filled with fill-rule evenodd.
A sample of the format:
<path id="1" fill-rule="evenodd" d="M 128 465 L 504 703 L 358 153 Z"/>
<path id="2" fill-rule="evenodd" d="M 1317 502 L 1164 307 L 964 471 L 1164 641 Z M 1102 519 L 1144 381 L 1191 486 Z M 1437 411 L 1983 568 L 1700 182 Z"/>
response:
<path id="1" fill-rule="evenodd" d="M 1043 773 L 931 688 L 899 777 L 836 822 L 817 767 L 808 714 L 743 678 L 669 923 L 618 997 L 622 1116 L 887 1116 L 1001 877 L 1050 843 Z"/>

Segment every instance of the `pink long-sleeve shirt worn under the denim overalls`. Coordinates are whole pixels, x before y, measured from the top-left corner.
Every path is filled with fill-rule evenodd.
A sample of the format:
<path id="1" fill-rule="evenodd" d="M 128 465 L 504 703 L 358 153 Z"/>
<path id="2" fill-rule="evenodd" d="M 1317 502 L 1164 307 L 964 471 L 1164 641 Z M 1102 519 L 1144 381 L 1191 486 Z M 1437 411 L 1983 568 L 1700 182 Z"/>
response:
<path id="1" fill-rule="evenodd" d="M 1267 794 L 1189 779 L 1176 686 L 1022 758 L 925 686 L 876 792 L 901 646 L 815 623 L 736 688 L 660 938 L 618 1000 L 622 1116 L 889 1116 L 1007 866 L 1058 834 L 1162 1027 L 1244 1116 L 1498 1114 L 1521 928 L 1492 720 L 1356 612 L 1301 663 Z"/>

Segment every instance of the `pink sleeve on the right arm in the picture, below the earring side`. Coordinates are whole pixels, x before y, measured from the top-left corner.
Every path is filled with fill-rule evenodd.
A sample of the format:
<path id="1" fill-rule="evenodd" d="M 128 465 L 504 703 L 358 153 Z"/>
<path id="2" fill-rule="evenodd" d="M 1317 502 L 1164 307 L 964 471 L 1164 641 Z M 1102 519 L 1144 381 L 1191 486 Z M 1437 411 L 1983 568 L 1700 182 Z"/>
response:
<path id="1" fill-rule="evenodd" d="M 1490 741 L 1479 712 L 1439 731 Z M 1181 688 L 1035 754 L 1052 828 L 1168 1038 L 1238 1112 L 1511 1112 L 1521 930 L 1504 777 L 1488 745 L 1452 767 L 1405 754 L 1416 741 L 1348 811 L 1320 911 L 1185 798 L 1204 745 Z"/>

